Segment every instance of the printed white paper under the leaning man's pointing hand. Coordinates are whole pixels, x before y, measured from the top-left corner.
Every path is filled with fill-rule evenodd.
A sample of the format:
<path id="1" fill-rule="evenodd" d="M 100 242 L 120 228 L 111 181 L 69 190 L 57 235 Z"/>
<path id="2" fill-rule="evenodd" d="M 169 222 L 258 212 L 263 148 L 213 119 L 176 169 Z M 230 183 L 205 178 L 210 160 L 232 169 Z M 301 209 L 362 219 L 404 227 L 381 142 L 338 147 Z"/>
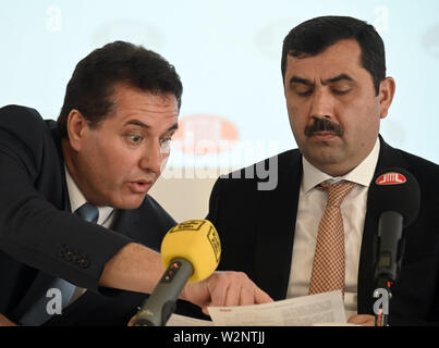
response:
<path id="1" fill-rule="evenodd" d="M 271 303 L 236 307 L 209 307 L 212 322 L 173 314 L 171 326 L 310 326 L 346 323 L 340 290 L 296 297 Z"/>

